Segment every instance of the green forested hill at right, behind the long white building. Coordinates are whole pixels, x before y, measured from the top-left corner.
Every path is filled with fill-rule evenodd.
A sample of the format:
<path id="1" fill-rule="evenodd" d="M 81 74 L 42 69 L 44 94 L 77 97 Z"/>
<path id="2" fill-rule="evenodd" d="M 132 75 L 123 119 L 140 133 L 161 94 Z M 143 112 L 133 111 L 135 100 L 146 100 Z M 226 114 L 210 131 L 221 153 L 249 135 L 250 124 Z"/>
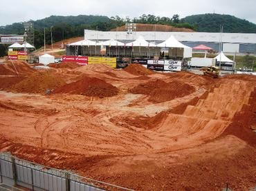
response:
<path id="1" fill-rule="evenodd" d="M 196 14 L 181 20 L 196 26 L 197 32 L 219 32 L 223 25 L 223 32 L 256 33 L 255 23 L 228 14 Z"/>

